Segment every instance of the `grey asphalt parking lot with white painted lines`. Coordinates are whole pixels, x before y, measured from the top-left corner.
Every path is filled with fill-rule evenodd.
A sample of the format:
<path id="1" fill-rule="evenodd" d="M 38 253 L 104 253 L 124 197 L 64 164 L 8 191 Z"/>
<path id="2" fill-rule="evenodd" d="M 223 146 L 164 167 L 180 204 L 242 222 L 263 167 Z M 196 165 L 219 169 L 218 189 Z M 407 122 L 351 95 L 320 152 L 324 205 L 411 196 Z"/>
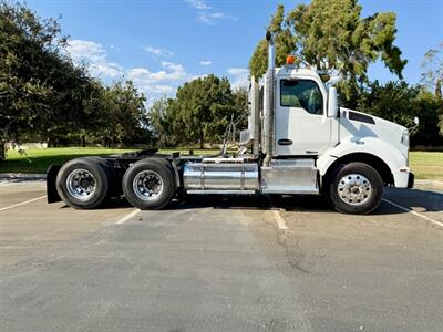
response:
<path id="1" fill-rule="evenodd" d="M 442 331 L 443 195 L 48 205 L 0 185 L 0 331 Z M 409 210 L 412 210 L 409 211 Z"/>

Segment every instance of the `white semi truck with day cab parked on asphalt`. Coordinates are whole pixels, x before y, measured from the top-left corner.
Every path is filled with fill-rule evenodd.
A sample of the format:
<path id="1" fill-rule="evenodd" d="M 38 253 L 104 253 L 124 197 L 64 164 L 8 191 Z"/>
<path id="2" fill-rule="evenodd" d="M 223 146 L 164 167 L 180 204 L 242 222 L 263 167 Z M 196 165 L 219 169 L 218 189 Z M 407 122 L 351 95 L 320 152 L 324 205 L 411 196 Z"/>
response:
<path id="1" fill-rule="evenodd" d="M 264 84 L 251 80 L 248 129 L 237 153 L 145 151 L 51 165 L 49 203 L 95 208 L 124 195 L 140 209 L 161 209 L 178 194 L 302 194 L 324 195 L 341 212 L 369 214 L 384 186 L 411 188 L 408 129 L 339 107 L 331 80 L 309 65 L 275 68 L 270 33 L 267 40 L 267 73 Z"/>

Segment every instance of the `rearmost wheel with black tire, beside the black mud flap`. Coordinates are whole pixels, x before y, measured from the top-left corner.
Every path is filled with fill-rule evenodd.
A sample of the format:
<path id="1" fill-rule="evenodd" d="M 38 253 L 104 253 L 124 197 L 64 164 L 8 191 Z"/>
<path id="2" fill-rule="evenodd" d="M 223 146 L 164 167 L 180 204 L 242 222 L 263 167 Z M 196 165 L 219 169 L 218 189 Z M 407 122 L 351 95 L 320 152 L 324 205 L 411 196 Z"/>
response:
<path id="1" fill-rule="evenodd" d="M 109 198 L 113 175 L 113 169 L 105 159 L 76 158 L 65 163 L 60 169 L 55 179 L 56 191 L 73 208 L 93 209 Z"/>

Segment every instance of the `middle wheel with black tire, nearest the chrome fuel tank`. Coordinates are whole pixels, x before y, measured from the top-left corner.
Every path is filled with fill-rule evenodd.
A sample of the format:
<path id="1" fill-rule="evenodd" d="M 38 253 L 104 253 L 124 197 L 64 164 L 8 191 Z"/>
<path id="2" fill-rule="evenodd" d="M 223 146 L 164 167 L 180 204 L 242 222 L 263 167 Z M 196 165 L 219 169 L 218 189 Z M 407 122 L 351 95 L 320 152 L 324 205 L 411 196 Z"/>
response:
<path id="1" fill-rule="evenodd" d="M 141 210 L 162 209 L 174 198 L 177 186 L 167 160 L 142 159 L 123 176 L 126 199 Z"/>

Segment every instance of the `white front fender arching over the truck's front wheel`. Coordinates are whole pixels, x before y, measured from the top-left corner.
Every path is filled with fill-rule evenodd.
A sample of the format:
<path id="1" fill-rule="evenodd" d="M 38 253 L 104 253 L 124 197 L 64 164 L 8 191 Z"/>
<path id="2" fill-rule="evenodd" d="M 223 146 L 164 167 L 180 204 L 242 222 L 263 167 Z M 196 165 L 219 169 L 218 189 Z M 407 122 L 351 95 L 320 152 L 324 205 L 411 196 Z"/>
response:
<path id="1" fill-rule="evenodd" d="M 336 147 L 327 151 L 322 156 L 317 159 L 317 168 L 319 169 L 320 175 L 326 175 L 329 167 L 337 159 L 356 153 L 369 154 L 382 159 L 392 173 L 395 187 L 408 187 L 410 173 L 410 169 L 408 167 L 408 156 L 403 155 L 394 146 L 383 141 L 380 141 L 377 137 L 346 139 Z"/>

